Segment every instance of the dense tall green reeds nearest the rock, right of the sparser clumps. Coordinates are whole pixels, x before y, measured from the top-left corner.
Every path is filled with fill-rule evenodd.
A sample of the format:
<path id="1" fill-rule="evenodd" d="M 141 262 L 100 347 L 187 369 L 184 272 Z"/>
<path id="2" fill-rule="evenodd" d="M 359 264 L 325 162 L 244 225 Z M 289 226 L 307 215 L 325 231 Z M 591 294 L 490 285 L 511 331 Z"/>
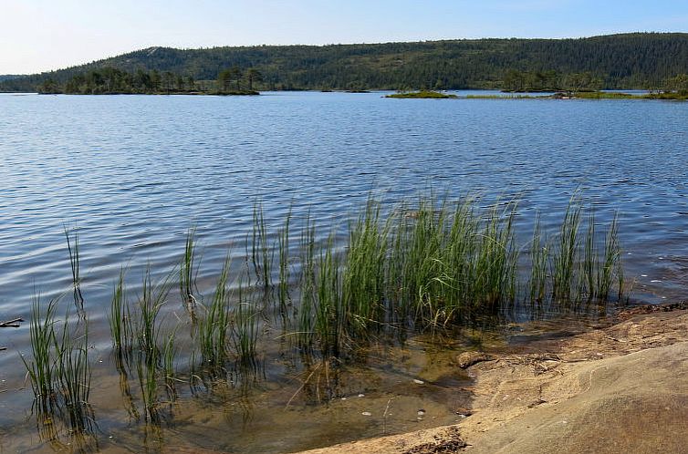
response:
<path id="1" fill-rule="evenodd" d="M 301 237 L 299 345 L 340 352 L 388 328 L 426 330 L 483 323 L 522 303 L 549 310 L 607 304 L 623 294 L 618 221 L 599 236 L 593 212 L 573 199 L 558 232 L 537 215 L 530 244 L 514 231 L 516 203 L 478 209 L 466 198 L 431 197 L 385 212 L 369 201 L 343 248 L 318 252 L 307 221 Z M 602 229 L 604 230 L 604 229 Z M 527 304 L 526 304 L 527 305 Z"/>

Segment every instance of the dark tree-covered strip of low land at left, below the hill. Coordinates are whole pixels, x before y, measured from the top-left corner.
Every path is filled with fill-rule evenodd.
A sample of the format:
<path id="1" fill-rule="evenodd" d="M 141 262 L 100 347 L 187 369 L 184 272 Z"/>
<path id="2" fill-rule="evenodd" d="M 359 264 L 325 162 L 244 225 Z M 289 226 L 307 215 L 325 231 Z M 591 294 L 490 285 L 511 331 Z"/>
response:
<path id="1" fill-rule="evenodd" d="M 193 76 L 182 76 L 172 71 L 137 69 L 128 72 L 117 67 L 103 67 L 77 73 L 64 83 L 52 77 L 46 78 L 37 87 L 39 93 L 66 93 L 72 95 L 102 94 L 172 94 L 172 93 L 237 93 L 253 90 L 254 84 L 262 80 L 255 68 L 243 71 L 240 67 L 224 69 L 217 81 L 197 81 Z"/>

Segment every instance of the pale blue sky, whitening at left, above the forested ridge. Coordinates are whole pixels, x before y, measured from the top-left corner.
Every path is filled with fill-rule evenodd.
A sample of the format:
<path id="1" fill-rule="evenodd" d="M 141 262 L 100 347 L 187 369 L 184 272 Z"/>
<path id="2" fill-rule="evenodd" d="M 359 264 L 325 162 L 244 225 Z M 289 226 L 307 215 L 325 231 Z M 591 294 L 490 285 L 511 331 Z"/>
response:
<path id="1" fill-rule="evenodd" d="M 686 0 L 0 0 L 0 74 L 150 46 L 688 32 Z"/>

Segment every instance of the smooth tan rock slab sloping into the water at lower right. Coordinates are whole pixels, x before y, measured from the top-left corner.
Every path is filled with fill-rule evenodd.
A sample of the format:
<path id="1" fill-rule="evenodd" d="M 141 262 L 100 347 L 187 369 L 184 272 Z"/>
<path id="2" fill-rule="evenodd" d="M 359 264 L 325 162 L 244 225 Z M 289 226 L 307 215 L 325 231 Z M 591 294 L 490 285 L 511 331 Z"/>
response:
<path id="1" fill-rule="evenodd" d="M 633 307 L 616 322 L 457 357 L 474 377 L 457 425 L 307 452 L 685 452 L 686 304 Z"/>

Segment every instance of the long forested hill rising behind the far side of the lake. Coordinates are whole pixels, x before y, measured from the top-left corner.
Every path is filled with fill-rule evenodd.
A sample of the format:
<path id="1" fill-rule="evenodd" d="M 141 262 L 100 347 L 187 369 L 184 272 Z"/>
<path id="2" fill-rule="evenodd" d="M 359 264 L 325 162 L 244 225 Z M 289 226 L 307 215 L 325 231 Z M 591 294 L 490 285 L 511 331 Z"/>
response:
<path id="1" fill-rule="evenodd" d="M 599 88 L 651 88 L 688 73 L 688 34 L 635 33 L 579 39 L 477 39 L 332 46 L 151 47 L 119 57 L 0 82 L 36 90 L 47 79 L 104 67 L 215 80 L 227 67 L 255 68 L 260 89 L 503 88 L 509 72 L 588 74 Z"/>

